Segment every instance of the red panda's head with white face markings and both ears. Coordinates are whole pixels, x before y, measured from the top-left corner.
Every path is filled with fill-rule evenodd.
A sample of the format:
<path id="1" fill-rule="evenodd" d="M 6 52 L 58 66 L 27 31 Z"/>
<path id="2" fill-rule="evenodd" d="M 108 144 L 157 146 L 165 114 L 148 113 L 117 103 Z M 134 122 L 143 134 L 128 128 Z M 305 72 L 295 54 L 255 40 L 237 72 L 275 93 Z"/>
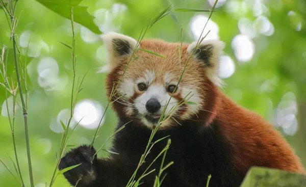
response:
<path id="1" fill-rule="evenodd" d="M 113 93 L 119 117 L 152 128 L 171 95 L 165 109 L 168 119 L 161 124 L 162 129 L 191 118 L 196 120 L 201 111 L 213 113 L 212 102 L 220 84 L 217 71 L 222 42 L 204 40 L 198 45 L 193 42 L 181 46 L 181 43 L 143 40 L 137 46 L 135 39 L 117 33 L 102 38 L 111 65 L 108 94 Z"/>

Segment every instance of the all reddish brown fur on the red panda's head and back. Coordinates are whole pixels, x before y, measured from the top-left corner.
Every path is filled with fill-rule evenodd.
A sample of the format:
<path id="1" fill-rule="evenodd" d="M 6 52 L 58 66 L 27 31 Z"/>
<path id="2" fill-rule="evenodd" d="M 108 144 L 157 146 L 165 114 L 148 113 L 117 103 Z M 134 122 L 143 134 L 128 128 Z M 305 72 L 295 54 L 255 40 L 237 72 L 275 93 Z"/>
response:
<path id="1" fill-rule="evenodd" d="M 160 40 L 148 40 L 141 42 L 141 48 L 152 50 L 160 57 L 148 54 L 144 51 L 137 51 L 139 60 L 132 62 L 124 77 L 141 76 L 146 69 L 157 69 L 156 82 L 163 82 L 165 72 L 171 72 L 177 77 L 180 76 L 181 68 L 189 59 L 183 45 L 182 65 L 179 63 L 177 46 L 179 43 L 166 43 Z M 110 93 L 113 84 L 122 74 L 122 69 L 130 57 L 121 59 L 121 65 L 117 66 L 108 76 L 108 92 Z M 194 82 L 197 91 L 202 99 L 202 107 L 198 114 L 191 117 L 194 121 L 203 121 L 209 125 L 212 121 L 220 125 L 221 133 L 226 138 L 228 147 L 234 153 L 232 159 L 241 174 L 245 174 L 251 166 L 265 166 L 278 168 L 287 171 L 305 173 L 299 158 L 294 154 L 293 149 L 281 136 L 273 129 L 273 126 L 263 120 L 257 114 L 245 110 L 221 93 L 206 76 L 205 69 L 199 63 L 192 60 L 192 66 L 188 67 L 181 84 Z M 136 94 L 138 95 L 138 94 Z M 137 97 L 137 96 L 135 96 Z M 179 98 L 179 96 L 175 96 Z M 180 98 L 182 99 L 182 98 Z M 114 103 L 114 109 L 119 117 L 124 117 L 120 103 Z M 125 117 L 124 117 L 125 118 Z"/>

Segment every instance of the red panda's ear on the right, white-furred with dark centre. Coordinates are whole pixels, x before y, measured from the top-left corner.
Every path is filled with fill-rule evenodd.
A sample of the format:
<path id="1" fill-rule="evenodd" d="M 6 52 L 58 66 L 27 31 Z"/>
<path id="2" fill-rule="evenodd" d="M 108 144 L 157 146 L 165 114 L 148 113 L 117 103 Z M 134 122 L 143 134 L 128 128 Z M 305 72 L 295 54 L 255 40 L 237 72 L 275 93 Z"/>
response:
<path id="1" fill-rule="evenodd" d="M 222 81 L 218 77 L 218 70 L 219 56 L 224 48 L 224 43 L 219 40 L 203 40 L 198 46 L 196 44 L 197 42 L 192 42 L 187 47 L 187 52 L 203 63 L 210 81 L 221 86 Z"/>

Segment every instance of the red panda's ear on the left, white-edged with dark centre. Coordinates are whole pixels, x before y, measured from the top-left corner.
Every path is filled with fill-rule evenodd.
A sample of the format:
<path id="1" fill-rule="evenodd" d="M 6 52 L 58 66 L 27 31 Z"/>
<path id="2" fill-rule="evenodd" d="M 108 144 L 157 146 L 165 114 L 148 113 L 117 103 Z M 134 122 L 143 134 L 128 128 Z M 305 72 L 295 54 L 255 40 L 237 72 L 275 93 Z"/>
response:
<path id="1" fill-rule="evenodd" d="M 134 38 L 114 32 L 103 34 L 101 38 L 107 49 L 111 69 L 120 63 L 123 56 L 131 55 L 137 45 Z"/>

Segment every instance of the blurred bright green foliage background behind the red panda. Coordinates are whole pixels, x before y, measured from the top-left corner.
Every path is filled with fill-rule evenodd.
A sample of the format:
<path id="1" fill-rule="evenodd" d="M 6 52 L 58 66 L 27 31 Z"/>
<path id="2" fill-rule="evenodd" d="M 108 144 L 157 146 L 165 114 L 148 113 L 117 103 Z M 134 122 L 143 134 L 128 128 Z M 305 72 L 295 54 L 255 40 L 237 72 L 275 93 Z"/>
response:
<path id="1" fill-rule="evenodd" d="M 19 19 L 16 37 L 23 62 L 27 64 L 28 70 L 30 143 L 34 180 L 38 187 L 45 186 L 45 182 L 49 182 L 52 175 L 61 138 L 61 133 L 56 133 L 54 129 L 61 128 L 58 118 L 63 119 L 63 116 L 59 113 L 69 109 L 70 106 L 71 54 L 69 48 L 60 43 L 71 44 L 70 22 L 62 17 L 69 18 L 70 15 L 69 9 L 65 8 L 67 6 L 65 2 L 67 1 L 50 3 L 43 0 L 19 0 L 16 9 L 16 16 Z M 100 32 L 115 31 L 138 38 L 148 20 L 170 3 L 175 8 L 210 9 L 212 6 L 209 2 L 213 1 L 84 0 L 81 2 L 78 0 L 72 2 L 80 7 L 79 12 L 77 8 L 75 9 L 77 15 L 75 21 L 92 32 L 99 33 L 98 29 Z M 225 55 L 233 59 L 235 64 L 234 74 L 223 79 L 226 86 L 222 89 L 237 103 L 271 121 L 284 133 L 306 165 L 306 3 L 303 0 L 227 0 L 220 1 L 220 6 L 216 10 L 212 16 L 212 21 L 218 26 L 216 33 L 226 44 Z M 91 15 L 95 18 L 92 19 Z M 196 16 L 208 15 L 208 12 L 173 12 L 157 22 L 145 38 L 161 38 L 177 42 L 181 39 L 181 28 L 183 28 L 183 41 L 192 42 L 195 40 L 191 29 L 192 20 Z M 247 20 L 246 23 L 243 20 Z M 96 73 L 99 67 L 103 66 L 103 69 L 106 69 L 107 65 L 103 42 L 98 35 L 81 24 L 75 25 L 77 76 L 82 78 L 86 72 L 88 73 L 78 101 L 90 99 L 97 107 L 105 107 L 106 73 Z M 200 24 L 203 26 L 205 22 Z M 269 27 L 267 24 L 273 25 L 272 34 L 271 31 L 267 33 L 267 26 Z M 0 47 L 6 46 L 8 72 L 11 72 L 9 77 L 14 80 L 10 29 L 1 9 L 0 28 Z M 271 29 L 271 25 L 268 29 Z M 235 52 L 233 39 L 241 34 L 247 36 L 254 47 L 254 54 L 247 62 L 239 60 L 237 51 Z M 43 66 L 46 64 L 51 64 L 52 72 L 48 72 Z M 0 157 L 13 169 L 9 158 L 13 156 L 13 148 L 8 118 L 5 117 L 6 108 L 3 105 L 5 99 L 7 99 L 5 90 L 0 87 L 2 111 Z M 105 142 L 114 131 L 116 123 L 114 112 L 108 110 L 95 146 L 98 147 Z M 69 144 L 72 146 L 88 144 L 93 138 L 93 133 L 93 129 L 79 126 L 73 132 Z M 21 170 L 27 175 L 27 156 L 20 108 L 17 108 L 15 136 Z M 111 142 L 108 142 L 107 147 L 110 146 Z M 101 153 L 100 156 L 106 155 L 107 153 Z M 28 178 L 24 178 L 25 182 L 29 183 Z M 18 185 L 3 166 L 0 166 L 0 185 Z M 68 186 L 68 184 L 60 176 L 55 186 Z"/>

